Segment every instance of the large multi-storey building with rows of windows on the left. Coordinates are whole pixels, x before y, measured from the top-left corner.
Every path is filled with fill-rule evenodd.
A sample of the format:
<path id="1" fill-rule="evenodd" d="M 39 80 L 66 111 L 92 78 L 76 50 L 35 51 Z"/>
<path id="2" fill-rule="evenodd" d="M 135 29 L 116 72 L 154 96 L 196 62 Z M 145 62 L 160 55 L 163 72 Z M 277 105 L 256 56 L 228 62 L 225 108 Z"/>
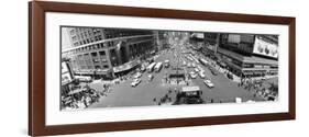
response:
<path id="1" fill-rule="evenodd" d="M 62 50 L 75 75 L 114 78 L 136 67 L 154 49 L 152 31 L 99 27 L 63 27 L 70 47 Z M 62 46 L 63 47 L 63 46 Z"/>

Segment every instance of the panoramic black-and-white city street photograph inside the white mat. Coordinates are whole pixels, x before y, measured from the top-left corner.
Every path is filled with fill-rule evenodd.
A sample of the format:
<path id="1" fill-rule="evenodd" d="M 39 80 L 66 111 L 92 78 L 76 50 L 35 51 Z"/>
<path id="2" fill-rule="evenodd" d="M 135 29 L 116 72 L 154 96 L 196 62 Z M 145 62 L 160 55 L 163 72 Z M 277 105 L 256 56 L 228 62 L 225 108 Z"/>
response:
<path id="1" fill-rule="evenodd" d="M 59 109 L 276 102 L 279 38 L 63 25 Z"/>

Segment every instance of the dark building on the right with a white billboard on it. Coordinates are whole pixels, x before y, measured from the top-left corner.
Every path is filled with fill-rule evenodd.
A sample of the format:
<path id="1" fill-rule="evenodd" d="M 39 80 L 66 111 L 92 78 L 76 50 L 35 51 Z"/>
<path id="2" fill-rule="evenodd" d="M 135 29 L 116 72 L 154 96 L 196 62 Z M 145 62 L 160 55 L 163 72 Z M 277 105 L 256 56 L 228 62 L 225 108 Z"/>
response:
<path id="1" fill-rule="evenodd" d="M 222 66 L 242 77 L 277 75 L 278 36 L 220 34 L 218 55 Z"/>

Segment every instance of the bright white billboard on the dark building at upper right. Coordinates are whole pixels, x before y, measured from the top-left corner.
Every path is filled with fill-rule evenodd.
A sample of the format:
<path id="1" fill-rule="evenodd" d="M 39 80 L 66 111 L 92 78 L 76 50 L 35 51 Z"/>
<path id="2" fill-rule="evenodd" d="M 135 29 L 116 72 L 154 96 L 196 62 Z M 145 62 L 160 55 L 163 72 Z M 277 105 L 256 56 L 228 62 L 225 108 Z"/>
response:
<path id="1" fill-rule="evenodd" d="M 265 42 L 262 38 L 256 37 L 254 42 L 253 53 L 273 58 L 278 58 L 278 45 Z"/>

